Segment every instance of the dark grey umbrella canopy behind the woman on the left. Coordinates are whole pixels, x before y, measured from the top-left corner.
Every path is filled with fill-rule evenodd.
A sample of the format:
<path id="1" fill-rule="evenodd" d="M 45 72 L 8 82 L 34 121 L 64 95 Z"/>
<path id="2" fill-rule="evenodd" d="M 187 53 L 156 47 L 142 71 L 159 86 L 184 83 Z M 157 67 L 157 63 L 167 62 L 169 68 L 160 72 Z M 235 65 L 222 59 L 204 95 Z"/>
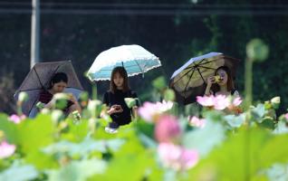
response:
<path id="1" fill-rule="evenodd" d="M 15 99 L 17 99 L 21 91 L 27 92 L 29 100 L 24 102 L 23 105 L 25 115 L 29 115 L 30 111 L 34 108 L 35 103 L 39 99 L 40 92 L 48 89 L 50 80 L 56 72 L 66 73 L 68 84 L 64 91 L 71 92 L 78 98 L 83 88 L 72 67 L 71 61 L 39 62 L 29 71 L 21 86 L 14 94 Z"/>

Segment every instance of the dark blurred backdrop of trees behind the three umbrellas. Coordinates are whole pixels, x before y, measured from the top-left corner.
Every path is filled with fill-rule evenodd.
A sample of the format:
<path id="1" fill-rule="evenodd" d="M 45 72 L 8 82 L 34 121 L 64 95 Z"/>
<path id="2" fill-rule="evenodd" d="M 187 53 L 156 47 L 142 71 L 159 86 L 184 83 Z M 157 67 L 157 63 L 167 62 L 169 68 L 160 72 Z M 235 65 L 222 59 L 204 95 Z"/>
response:
<path id="1" fill-rule="evenodd" d="M 110 47 L 139 44 L 162 67 L 130 78 L 142 101 L 151 100 L 151 81 L 168 81 L 191 57 L 223 52 L 241 60 L 236 87 L 244 94 L 245 47 L 260 38 L 269 46 L 265 62 L 254 63 L 254 100 L 288 100 L 288 2 L 285 0 L 42 0 L 40 62 L 71 60 L 85 90 L 96 56 Z M 13 113 L 14 91 L 30 71 L 31 0 L 0 0 L 0 111 Z M 97 84 L 103 95 L 108 81 Z"/>

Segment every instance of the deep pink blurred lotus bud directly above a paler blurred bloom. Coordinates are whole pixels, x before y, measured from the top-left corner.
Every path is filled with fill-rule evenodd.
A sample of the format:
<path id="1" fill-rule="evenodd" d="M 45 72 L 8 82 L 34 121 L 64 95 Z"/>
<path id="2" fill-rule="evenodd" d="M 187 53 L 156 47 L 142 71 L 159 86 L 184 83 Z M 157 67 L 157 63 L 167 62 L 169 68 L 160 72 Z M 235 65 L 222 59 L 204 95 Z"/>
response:
<path id="1" fill-rule="evenodd" d="M 158 142 L 174 142 L 179 138 L 181 129 L 174 116 L 162 115 L 156 123 L 154 135 Z"/>

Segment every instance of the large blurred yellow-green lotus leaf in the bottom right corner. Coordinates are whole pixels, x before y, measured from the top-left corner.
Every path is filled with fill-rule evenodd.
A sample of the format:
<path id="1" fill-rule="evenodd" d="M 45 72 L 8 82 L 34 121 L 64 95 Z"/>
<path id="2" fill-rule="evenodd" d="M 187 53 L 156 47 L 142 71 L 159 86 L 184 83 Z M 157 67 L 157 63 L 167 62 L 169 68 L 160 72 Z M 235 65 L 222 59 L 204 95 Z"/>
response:
<path id="1" fill-rule="evenodd" d="M 247 138 L 249 141 L 246 141 Z M 189 174 L 196 180 L 207 176 L 219 180 L 256 177 L 273 163 L 287 162 L 287 148 L 282 148 L 285 139 L 287 135 L 275 136 L 263 129 L 242 129 L 235 136 L 227 138 L 221 147 L 204 158 Z"/>

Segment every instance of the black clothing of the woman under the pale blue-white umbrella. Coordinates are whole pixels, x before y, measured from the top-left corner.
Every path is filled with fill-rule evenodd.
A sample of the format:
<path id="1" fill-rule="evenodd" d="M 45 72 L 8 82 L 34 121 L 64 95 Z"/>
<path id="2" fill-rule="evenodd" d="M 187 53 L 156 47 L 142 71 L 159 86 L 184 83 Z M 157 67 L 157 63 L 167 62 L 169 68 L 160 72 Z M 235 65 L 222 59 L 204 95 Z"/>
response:
<path id="1" fill-rule="evenodd" d="M 123 111 L 120 113 L 111 114 L 110 117 L 113 121 L 117 122 L 119 125 L 129 124 L 131 121 L 131 109 L 128 108 L 125 102 L 125 98 L 138 98 L 135 91 L 128 90 L 123 92 L 122 90 L 116 90 L 114 93 L 111 91 L 106 91 L 104 94 L 103 103 L 111 107 L 118 104 L 122 107 Z M 137 101 L 137 106 L 139 102 Z"/>

